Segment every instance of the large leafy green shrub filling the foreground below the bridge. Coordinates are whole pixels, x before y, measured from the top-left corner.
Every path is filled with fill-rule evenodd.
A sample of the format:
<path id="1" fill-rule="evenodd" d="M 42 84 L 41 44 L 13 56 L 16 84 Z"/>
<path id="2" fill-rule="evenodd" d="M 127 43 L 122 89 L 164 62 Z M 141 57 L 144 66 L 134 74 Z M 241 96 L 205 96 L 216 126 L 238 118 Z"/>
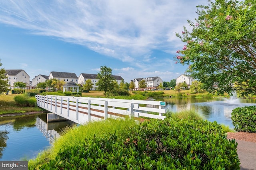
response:
<path id="1" fill-rule="evenodd" d="M 240 169 L 237 143 L 216 122 L 153 119 L 64 147 L 40 169 Z"/>

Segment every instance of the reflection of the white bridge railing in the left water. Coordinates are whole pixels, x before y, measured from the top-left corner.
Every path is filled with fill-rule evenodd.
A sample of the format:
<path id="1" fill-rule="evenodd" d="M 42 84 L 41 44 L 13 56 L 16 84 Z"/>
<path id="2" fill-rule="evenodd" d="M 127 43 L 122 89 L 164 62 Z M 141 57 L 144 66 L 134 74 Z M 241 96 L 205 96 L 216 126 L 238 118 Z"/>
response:
<path id="1" fill-rule="evenodd" d="M 44 134 L 46 139 L 52 143 L 56 138 L 60 137 L 60 134 L 54 129 L 48 129 L 47 123 L 42 121 L 39 117 L 36 118 L 36 127 Z"/>

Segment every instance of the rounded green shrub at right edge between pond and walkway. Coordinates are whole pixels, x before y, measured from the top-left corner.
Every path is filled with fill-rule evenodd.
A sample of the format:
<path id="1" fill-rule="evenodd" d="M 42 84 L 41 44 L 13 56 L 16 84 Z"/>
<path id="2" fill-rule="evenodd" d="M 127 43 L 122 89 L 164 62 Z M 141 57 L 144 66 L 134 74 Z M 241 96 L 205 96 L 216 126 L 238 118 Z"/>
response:
<path id="1" fill-rule="evenodd" d="M 237 107 L 231 115 L 236 131 L 256 133 L 256 106 Z"/>

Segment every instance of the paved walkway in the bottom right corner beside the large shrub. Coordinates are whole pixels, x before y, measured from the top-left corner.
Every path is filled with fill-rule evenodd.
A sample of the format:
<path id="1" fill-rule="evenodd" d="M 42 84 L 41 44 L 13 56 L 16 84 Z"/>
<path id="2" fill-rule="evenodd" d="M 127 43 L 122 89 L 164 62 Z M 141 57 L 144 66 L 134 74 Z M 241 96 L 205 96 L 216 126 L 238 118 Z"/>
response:
<path id="1" fill-rule="evenodd" d="M 256 170 L 256 143 L 237 140 L 240 170 Z"/>

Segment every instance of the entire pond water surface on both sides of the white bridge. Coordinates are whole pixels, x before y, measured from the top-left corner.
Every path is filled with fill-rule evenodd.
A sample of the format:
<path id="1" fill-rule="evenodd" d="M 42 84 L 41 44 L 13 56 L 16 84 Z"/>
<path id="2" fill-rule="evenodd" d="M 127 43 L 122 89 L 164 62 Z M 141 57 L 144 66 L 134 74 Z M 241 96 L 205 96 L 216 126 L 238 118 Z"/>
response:
<path id="1" fill-rule="evenodd" d="M 233 128 L 232 109 L 256 105 L 256 99 L 229 101 L 225 98 L 161 98 L 166 109 L 180 111 L 196 109 L 205 119 L 217 121 Z M 72 121 L 45 123 L 46 113 L 23 116 L 0 117 L 0 160 L 29 160 L 47 149 L 62 129 Z"/>

